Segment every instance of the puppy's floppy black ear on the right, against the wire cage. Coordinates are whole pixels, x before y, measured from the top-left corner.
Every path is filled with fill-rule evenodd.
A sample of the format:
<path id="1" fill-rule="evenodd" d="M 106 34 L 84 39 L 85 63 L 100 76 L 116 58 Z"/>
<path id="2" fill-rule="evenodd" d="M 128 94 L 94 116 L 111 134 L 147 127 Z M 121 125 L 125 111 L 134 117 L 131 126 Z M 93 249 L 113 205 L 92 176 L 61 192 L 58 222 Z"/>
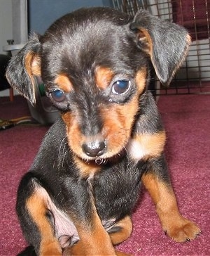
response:
<path id="1" fill-rule="evenodd" d="M 135 15 L 130 29 L 137 35 L 138 46 L 151 56 L 160 82 L 168 85 L 188 51 L 191 41 L 188 32 L 144 10 Z"/>

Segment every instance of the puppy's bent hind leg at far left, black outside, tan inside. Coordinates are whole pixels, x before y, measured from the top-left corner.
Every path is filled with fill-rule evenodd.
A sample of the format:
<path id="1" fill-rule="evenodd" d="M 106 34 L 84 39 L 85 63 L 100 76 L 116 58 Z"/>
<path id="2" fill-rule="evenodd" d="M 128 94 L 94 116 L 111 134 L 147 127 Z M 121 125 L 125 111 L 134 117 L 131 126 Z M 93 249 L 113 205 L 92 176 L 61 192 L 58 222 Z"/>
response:
<path id="1" fill-rule="evenodd" d="M 32 173 L 27 173 L 18 188 L 16 210 L 25 238 L 33 245 L 36 255 L 62 255 L 48 215 L 47 192 Z M 43 193 L 45 191 L 45 193 Z"/>

